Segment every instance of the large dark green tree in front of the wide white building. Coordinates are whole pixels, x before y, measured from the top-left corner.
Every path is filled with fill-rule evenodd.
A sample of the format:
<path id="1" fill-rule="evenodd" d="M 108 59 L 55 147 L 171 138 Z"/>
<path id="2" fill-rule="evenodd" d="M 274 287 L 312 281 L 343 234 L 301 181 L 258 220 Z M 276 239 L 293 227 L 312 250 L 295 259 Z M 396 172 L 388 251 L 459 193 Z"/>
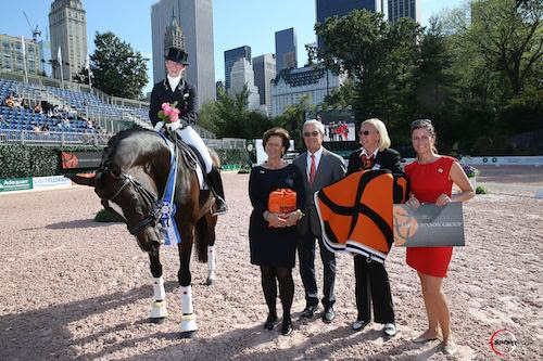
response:
<path id="1" fill-rule="evenodd" d="M 356 118 L 379 117 L 388 125 L 401 121 L 399 109 L 416 64 L 420 26 L 412 20 L 390 24 L 382 14 L 362 10 L 329 17 L 317 23 L 315 30 L 324 46 L 308 46 L 310 60 L 353 79 Z"/>

